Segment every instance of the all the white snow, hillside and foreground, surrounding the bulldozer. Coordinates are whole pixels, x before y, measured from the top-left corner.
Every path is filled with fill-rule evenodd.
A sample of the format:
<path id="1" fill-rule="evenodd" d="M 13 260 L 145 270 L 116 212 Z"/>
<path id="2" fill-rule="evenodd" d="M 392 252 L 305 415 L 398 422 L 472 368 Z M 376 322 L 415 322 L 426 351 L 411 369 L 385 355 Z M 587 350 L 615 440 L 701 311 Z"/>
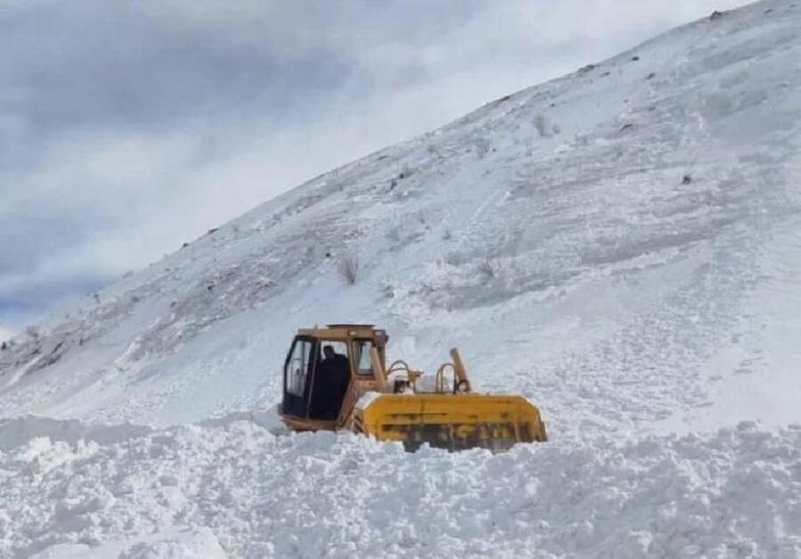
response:
<path id="1" fill-rule="evenodd" d="M 788 0 L 677 28 L 14 337 L 0 556 L 801 557 L 799 29 Z M 345 321 L 428 371 L 458 346 L 551 441 L 287 434 L 296 328 Z"/>

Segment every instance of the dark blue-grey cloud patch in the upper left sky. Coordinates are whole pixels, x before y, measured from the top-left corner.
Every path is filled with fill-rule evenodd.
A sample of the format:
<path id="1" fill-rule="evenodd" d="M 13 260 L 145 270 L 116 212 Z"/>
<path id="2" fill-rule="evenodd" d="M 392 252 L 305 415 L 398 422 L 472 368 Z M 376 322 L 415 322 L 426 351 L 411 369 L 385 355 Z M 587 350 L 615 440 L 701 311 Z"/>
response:
<path id="1" fill-rule="evenodd" d="M 14 54 L 0 61 L 3 83 L 12 85 L 4 113 L 24 118 L 34 135 L 72 126 L 169 129 L 186 119 L 248 117 L 241 112 L 261 103 L 279 119 L 347 77 L 336 53 L 308 51 L 287 62 L 225 36 L 165 33 L 124 6 L 6 13 L 0 48 Z"/>

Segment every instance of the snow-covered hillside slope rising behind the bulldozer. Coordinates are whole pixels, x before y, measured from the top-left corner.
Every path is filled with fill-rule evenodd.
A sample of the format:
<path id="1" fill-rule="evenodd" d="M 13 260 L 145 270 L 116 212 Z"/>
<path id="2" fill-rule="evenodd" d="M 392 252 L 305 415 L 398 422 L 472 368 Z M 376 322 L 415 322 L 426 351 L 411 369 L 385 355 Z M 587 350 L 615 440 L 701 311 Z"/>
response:
<path id="1" fill-rule="evenodd" d="M 424 367 L 461 346 L 554 434 L 716 402 L 725 423 L 786 422 L 799 24 L 790 2 L 700 20 L 322 175 L 18 337 L 0 411 L 249 408 L 277 398 L 295 328 L 363 320 Z"/>

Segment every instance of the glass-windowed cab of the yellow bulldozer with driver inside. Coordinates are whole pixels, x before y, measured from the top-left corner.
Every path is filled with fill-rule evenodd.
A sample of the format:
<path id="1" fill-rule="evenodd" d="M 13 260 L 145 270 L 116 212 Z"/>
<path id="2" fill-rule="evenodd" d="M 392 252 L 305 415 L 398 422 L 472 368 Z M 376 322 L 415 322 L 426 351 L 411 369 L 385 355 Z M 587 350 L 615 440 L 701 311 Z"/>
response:
<path id="1" fill-rule="evenodd" d="M 383 330 L 369 325 L 301 329 L 284 362 L 281 413 L 335 428 L 352 382 L 374 380 L 370 352 L 383 357 L 385 343 Z"/>

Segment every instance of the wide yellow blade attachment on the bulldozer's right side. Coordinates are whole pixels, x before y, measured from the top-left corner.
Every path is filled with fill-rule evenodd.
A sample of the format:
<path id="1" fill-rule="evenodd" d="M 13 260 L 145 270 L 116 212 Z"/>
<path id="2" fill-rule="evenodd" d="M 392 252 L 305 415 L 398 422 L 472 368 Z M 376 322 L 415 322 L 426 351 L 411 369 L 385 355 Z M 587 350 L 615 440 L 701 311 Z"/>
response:
<path id="1" fill-rule="evenodd" d="M 357 405 L 353 430 L 414 451 L 435 448 L 508 450 L 517 442 L 545 442 L 537 407 L 522 396 L 494 394 L 380 394 Z"/>

